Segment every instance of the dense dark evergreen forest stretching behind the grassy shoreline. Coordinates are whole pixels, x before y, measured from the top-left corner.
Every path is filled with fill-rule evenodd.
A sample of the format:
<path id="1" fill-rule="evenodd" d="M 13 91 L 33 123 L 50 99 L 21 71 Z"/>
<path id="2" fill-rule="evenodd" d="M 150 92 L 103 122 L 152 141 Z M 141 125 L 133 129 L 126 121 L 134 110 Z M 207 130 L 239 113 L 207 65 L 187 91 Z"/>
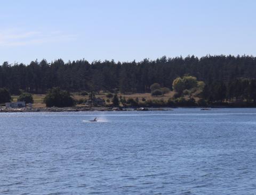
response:
<path id="1" fill-rule="evenodd" d="M 141 62 L 77 60 L 32 61 L 0 66 L 0 88 L 45 94 L 53 87 L 74 91 L 150 92 L 153 83 L 173 90 L 177 77 L 191 75 L 205 83 L 203 98 L 209 101 L 256 100 L 256 57 L 207 55 L 145 59 Z"/>

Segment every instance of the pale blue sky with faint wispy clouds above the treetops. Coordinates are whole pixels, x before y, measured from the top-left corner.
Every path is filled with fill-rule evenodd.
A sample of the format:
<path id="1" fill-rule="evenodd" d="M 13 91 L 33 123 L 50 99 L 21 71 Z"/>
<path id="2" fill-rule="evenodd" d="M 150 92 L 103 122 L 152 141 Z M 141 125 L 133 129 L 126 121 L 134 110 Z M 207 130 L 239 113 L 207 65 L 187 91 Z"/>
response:
<path id="1" fill-rule="evenodd" d="M 254 0 L 1 1 L 0 63 L 256 56 L 255 7 Z"/>

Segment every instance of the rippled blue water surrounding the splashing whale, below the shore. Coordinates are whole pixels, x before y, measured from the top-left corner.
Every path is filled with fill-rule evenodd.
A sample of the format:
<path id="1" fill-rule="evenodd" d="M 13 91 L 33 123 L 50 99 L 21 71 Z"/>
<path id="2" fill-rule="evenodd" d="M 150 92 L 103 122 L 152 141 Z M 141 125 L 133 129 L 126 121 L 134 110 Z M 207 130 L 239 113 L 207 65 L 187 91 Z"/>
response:
<path id="1" fill-rule="evenodd" d="M 256 194 L 253 108 L 0 113 L 0 124 L 0 194 Z"/>

